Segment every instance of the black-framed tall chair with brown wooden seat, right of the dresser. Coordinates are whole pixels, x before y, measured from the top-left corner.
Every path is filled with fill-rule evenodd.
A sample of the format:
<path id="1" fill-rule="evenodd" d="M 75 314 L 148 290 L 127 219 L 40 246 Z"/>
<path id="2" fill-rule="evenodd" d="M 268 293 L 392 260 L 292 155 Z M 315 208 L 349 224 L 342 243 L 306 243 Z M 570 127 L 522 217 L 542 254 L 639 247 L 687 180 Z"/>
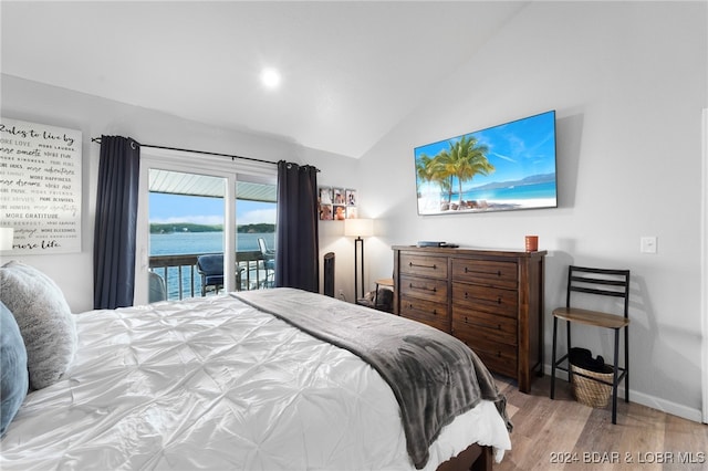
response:
<path id="1" fill-rule="evenodd" d="M 620 315 L 604 312 L 574 307 L 571 304 L 571 294 L 585 293 L 590 295 L 613 296 L 622 300 L 622 313 Z M 577 296 L 579 294 L 575 294 Z M 610 311 L 610 310 L 608 310 Z M 620 311 L 620 310 L 617 310 Z M 568 350 L 565 355 L 556 358 L 558 320 L 565 321 Z M 570 365 L 571 352 L 571 324 L 584 324 L 593 327 L 614 331 L 614 357 L 613 380 L 603 379 L 573 373 Z M 620 331 L 624 329 L 624 364 L 620 366 Z M 563 363 L 568 360 L 568 366 Z M 568 292 L 565 307 L 553 310 L 553 353 L 551 359 L 551 399 L 555 395 L 555 370 L 568 371 L 569 381 L 573 375 L 612 386 L 612 423 L 617 423 L 617 387 L 624 380 L 625 402 L 629 401 L 629 270 L 607 270 L 571 265 L 568 269 Z"/>

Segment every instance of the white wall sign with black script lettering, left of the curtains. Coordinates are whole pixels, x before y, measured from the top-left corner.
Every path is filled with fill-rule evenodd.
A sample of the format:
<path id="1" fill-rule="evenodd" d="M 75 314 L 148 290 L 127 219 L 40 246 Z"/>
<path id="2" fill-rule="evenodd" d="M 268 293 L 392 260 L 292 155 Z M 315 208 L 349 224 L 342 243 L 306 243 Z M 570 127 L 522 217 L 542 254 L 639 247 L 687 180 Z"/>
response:
<path id="1" fill-rule="evenodd" d="M 0 227 L 13 255 L 81 252 L 82 133 L 0 118 Z"/>

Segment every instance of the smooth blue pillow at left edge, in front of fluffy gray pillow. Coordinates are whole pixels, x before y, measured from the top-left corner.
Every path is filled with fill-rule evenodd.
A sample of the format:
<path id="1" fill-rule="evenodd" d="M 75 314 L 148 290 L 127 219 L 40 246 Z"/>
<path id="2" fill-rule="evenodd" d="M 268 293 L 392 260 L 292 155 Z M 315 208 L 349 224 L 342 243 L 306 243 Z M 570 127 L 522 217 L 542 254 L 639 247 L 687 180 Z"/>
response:
<path id="1" fill-rule="evenodd" d="M 29 387 L 27 349 L 20 327 L 10 310 L 0 302 L 0 437 L 20 410 Z"/>

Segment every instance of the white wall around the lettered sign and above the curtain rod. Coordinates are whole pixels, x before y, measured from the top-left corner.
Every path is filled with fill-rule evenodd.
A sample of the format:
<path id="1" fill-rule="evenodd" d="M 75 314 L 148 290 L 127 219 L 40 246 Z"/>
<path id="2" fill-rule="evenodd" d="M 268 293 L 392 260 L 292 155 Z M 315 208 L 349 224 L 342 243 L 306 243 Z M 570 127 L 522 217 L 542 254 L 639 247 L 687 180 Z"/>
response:
<path id="1" fill-rule="evenodd" d="M 236 154 L 264 160 L 281 159 L 299 164 L 343 168 L 352 159 L 336 159 L 326 153 L 294 143 L 214 128 L 176 116 L 131 106 L 81 93 L 2 75 L 1 114 L 4 117 L 80 129 L 83 133 L 82 251 L 55 255 L 2 257 L 0 263 L 21 260 L 52 278 L 64 292 L 73 312 L 93 307 L 93 231 L 96 209 L 96 181 L 100 146 L 92 137 L 129 136 L 139 143 Z M 334 161 L 343 161 L 334 166 Z M 325 168 L 321 175 L 326 175 Z M 339 170 L 335 170 L 335 174 Z M 346 174 L 343 174 L 346 175 Z M 356 187 L 348 179 L 332 184 Z M 327 234 L 331 231 L 324 231 Z M 336 232 L 336 231 L 335 231 Z M 342 239 L 341 237 L 336 239 Z M 329 240 L 329 237 L 327 237 Z M 330 248 L 330 243 L 327 247 Z M 324 252 L 323 252 L 324 253 Z M 344 272 L 343 272 L 344 273 Z M 346 280 L 337 280 L 345 287 Z M 353 290 L 352 290 L 353 292 Z"/>

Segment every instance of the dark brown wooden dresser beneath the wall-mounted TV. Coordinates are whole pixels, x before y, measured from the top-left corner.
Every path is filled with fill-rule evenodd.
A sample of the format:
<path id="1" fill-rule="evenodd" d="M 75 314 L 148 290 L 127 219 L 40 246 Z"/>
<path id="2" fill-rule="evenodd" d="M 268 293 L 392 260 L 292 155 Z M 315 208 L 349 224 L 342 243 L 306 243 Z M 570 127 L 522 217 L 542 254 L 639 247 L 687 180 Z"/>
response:
<path id="1" fill-rule="evenodd" d="M 529 393 L 543 374 L 545 251 L 396 245 L 394 313 L 452 334 Z"/>

